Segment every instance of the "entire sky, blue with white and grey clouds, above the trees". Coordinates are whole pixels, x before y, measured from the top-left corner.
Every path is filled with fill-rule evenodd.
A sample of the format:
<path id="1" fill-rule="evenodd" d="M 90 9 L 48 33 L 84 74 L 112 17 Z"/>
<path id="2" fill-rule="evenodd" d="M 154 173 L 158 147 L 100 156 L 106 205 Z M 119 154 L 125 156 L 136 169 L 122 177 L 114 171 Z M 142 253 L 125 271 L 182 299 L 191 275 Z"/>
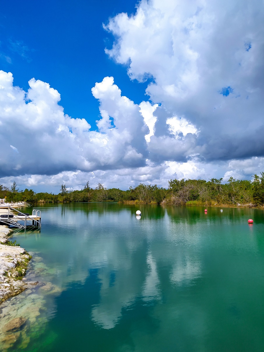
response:
<path id="1" fill-rule="evenodd" d="M 264 3 L 0 0 L 0 184 L 264 171 Z"/>

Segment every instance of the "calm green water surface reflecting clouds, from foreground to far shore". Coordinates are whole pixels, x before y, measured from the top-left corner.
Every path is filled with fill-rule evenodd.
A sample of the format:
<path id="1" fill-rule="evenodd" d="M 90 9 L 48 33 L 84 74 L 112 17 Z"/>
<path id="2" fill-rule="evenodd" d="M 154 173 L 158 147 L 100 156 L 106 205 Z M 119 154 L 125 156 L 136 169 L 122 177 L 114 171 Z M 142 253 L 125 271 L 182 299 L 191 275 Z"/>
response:
<path id="1" fill-rule="evenodd" d="M 13 239 L 36 253 L 26 278 L 49 284 L 7 302 L 38 307 L 8 351 L 264 350 L 263 210 L 40 209 L 41 232 Z"/>

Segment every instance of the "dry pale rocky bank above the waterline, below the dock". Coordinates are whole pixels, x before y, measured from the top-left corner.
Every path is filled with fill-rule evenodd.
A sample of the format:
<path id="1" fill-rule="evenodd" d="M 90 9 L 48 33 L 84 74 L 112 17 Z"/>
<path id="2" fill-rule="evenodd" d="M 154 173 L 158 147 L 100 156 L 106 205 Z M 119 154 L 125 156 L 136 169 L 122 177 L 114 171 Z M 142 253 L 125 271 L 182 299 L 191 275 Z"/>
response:
<path id="1" fill-rule="evenodd" d="M 20 246 L 8 245 L 12 233 L 7 226 L 0 226 L 0 304 L 27 288 L 21 278 L 31 256 Z"/>

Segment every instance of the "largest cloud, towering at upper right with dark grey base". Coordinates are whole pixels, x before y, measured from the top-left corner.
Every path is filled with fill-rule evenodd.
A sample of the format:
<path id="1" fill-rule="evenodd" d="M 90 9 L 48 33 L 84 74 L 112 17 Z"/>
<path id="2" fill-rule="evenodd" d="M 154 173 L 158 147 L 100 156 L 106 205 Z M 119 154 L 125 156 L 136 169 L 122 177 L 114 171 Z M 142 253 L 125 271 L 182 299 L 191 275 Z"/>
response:
<path id="1" fill-rule="evenodd" d="M 153 76 L 146 91 L 161 102 L 151 160 L 263 156 L 263 18 L 262 1 L 156 0 L 140 2 L 132 17 L 109 21 L 117 42 L 108 54 L 129 62 L 132 78 Z M 200 132 L 175 140 L 166 124 L 171 116 Z"/>

